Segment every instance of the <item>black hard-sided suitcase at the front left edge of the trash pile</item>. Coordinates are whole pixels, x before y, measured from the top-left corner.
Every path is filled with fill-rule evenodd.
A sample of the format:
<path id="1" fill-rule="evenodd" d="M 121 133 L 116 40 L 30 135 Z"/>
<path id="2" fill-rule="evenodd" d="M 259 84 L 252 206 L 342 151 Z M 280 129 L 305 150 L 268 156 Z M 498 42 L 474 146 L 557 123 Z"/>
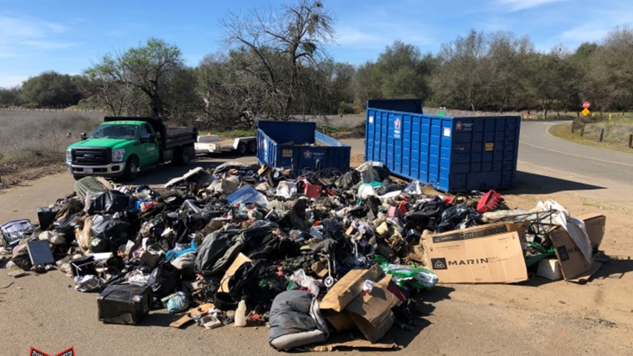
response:
<path id="1" fill-rule="evenodd" d="M 149 313 L 152 289 L 134 284 L 113 284 L 97 298 L 99 321 L 134 325 Z"/>

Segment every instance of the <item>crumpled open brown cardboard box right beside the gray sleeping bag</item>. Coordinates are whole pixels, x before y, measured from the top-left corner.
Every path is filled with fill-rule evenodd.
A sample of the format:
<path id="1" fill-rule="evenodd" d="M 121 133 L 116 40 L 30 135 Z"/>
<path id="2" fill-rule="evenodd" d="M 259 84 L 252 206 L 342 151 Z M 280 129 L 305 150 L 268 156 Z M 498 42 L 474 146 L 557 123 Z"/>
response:
<path id="1" fill-rule="evenodd" d="M 349 271 L 320 303 L 323 317 L 337 331 L 358 328 L 370 343 L 379 341 L 396 320 L 391 308 L 400 303 L 398 296 L 387 289 L 391 275 L 383 276 L 378 265 Z M 371 293 L 365 294 L 363 284 L 367 279 L 375 283 Z"/>

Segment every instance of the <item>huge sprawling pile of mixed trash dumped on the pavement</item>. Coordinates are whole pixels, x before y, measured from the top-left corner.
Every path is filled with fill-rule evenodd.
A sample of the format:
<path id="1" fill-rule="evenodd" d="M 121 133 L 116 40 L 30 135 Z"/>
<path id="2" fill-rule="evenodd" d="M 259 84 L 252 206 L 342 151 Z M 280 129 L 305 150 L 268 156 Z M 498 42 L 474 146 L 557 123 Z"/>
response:
<path id="1" fill-rule="evenodd" d="M 37 224 L 0 225 L 10 255 L 2 264 L 65 272 L 78 291 L 100 293 L 104 322 L 136 324 L 166 308 L 177 314 L 173 327 L 267 324 L 279 350 L 331 350 L 397 346 L 385 334 L 394 325 L 411 329 L 417 298 L 439 280 L 527 279 L 542 261 L 563 259 L 549 238 L 555 227 L 564 227 L 586 264 L 599 245 L 589 241 L 597 232 L 553 201 L 510 210 L 494 191 L 441 194 L 372 162 L 301 173 L 227 162 L 163 188 L 85 177 L 75 193 L 39 208 Z M 505 262 L 473 253 L 484 250 L 517 253 Z M 516 260 L 503 271 L 492 267 Z M 468 271 L 480 264 L 505 275 Z M 350 329 L 364 340 L 324 345 Z"/>

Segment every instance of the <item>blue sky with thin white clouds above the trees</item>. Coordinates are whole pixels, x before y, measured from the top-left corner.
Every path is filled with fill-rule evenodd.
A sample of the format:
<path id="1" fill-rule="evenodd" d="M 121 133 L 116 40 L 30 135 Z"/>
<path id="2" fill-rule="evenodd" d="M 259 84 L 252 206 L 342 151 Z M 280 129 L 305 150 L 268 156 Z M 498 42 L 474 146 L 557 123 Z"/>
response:
<path id="1" fill-rule="evenodd" d="M 100 56 L 137 46 L 148 37 L 177 44 L 188 65 L 221 51 L 218 21 L 227 11 L 278 7 L 289 1 L 246 0 L 0 0 L 0 87 L 14 86 L 44 70 L 80 73 Z M 599 41 L 633 22 L 630 0 L 324 0 L 337 18 L 338 61 L 375 60 L 387 44 L 402 40 L 423 53 L 470 29 L 529 35 L 547 51 Z"/>

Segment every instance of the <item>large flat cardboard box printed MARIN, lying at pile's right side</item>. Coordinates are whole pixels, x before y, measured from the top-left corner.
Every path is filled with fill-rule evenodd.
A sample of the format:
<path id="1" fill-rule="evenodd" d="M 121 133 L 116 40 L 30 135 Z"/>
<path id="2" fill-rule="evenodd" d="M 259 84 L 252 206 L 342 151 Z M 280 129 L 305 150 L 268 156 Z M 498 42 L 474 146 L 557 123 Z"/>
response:
<path id="1" fill-rule="evenodd" d="M 506 222 L 433 234 L 422 243 L 439 283 L 517 283 L 527 280 L 521 242 L 525 229 Z"/>

